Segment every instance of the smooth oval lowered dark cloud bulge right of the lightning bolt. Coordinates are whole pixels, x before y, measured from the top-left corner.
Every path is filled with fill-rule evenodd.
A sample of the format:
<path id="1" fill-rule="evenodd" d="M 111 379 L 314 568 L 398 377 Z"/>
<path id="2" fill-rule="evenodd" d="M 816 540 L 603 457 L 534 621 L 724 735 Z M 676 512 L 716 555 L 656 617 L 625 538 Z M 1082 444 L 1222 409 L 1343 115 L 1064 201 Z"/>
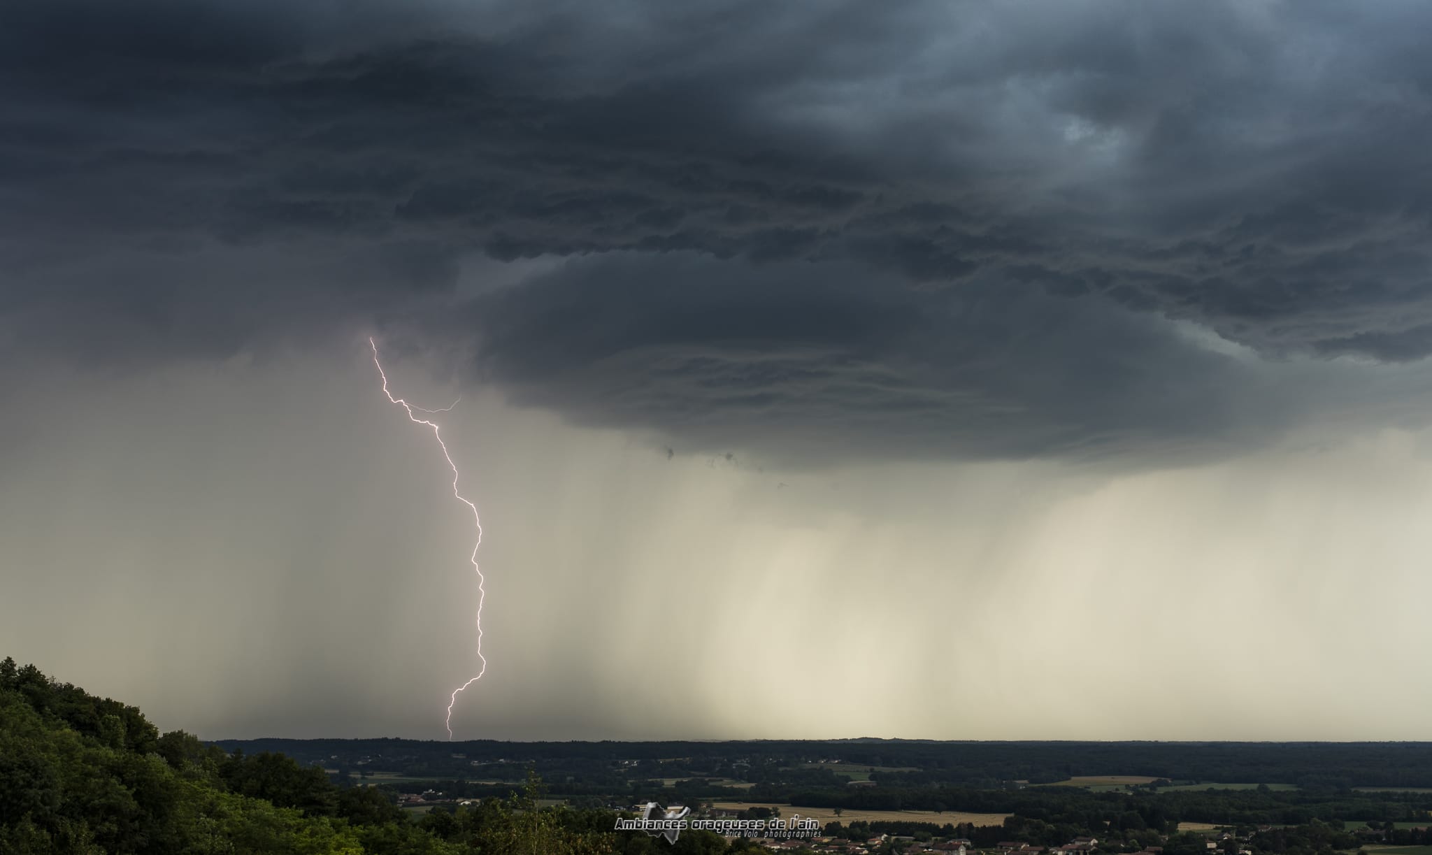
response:
<path id="1" fill-rule="evenodd" d="M 573 264 L 455 319 L 518 401 L 783 460 L 1191 461 L 1286 424 L 1296 392 L 1133 311 L 974 279 L 692 253 Z M 1292 404 L 1292 407 L 1290 407 Z"/>

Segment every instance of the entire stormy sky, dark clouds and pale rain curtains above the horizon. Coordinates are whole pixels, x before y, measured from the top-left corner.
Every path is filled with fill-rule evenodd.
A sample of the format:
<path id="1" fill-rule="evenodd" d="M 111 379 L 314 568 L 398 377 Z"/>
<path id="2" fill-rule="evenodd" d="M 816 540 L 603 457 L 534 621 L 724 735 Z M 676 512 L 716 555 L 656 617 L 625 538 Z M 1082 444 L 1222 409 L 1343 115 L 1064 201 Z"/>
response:
<path id="1" fill-rule="evenodd" d="M 49 0 L 0 654 L 203 738 L 1432 739 L 1432 7 Z"/>

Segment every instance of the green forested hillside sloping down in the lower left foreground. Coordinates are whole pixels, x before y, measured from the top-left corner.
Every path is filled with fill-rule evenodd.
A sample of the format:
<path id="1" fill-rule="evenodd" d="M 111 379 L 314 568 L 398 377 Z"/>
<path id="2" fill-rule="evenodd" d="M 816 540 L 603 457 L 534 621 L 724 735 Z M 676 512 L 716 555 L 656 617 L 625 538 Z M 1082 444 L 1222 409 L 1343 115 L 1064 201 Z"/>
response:
<path id="1" fill-rule="evenodd" d="M 378 789 L 338 788 L 322 769 L 279 753 L 229 755 L 182 730 L 160 736 L 133 706 L 87 695 L 34 666 L 0 663 L 6 855 L 599 855 L 654 848 L 646 835 L 611 834 L 610 812 L 536 809 L 536 783 L 508 799 L 412 821 Z"/>

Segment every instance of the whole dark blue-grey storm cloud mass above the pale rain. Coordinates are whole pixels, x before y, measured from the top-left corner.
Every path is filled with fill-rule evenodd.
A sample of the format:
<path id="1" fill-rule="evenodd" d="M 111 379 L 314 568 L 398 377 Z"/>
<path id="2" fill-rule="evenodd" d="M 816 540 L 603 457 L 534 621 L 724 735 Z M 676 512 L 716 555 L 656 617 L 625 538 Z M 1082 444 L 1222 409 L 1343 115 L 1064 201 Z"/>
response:
<path id="1" fill-rule="evenodd" d="M 1422 4 L 6 19 L 27 342 L 223 352 L 430 311 L 464 251 L 617 252 L 470 315 L 491 377 L 601 422 L 968 454 L 1279 421 L 1244 410 L 1257 371 L 1160 318 L 1273 355 L 1432 351 Z"/>

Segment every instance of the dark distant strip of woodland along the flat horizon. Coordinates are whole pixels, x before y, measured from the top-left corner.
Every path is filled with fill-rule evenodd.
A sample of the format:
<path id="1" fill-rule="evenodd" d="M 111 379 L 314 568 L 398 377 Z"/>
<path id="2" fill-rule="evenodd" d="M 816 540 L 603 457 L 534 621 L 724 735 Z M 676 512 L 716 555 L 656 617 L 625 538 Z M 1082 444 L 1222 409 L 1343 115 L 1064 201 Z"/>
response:
<path id="1" fill-rule="evenodd" d="M 225 749 L 284 752 L 302 762 L 357 762 L 414 776 L 520 778 L 533 765 L 548 781 L 573 775 L 607 783 L 630 778 L 723 776 L 796 783 L 803 762 L 838 759 L 914 772 L 876 772 L 892 786 L 1053 783 L 1081 775 L 1170 781 L 1293 783 L 1312 789 L 1432 786 L 1426 742 L 422 742 L 412 739 L 221 740 Z M 454 753 L 464 755 L 454 758 Z M 378 759 L 381 758 L 381 759 Z M 673 758 L 680 758 L 673 760 Z M 505 760 L 505 763 L 498 763 Z M 623 760 L 627 768 L 616 769 Z M 474 766 L 474 762 L 477 766 Z M 480 772 L 474 769 L 480 768 Z M 785 768 L 785 771 L 782 771 Z M 829 765 L 833 773 L 839 765 Z M 816 769 L 815 772 L 823 772 Z"/>

